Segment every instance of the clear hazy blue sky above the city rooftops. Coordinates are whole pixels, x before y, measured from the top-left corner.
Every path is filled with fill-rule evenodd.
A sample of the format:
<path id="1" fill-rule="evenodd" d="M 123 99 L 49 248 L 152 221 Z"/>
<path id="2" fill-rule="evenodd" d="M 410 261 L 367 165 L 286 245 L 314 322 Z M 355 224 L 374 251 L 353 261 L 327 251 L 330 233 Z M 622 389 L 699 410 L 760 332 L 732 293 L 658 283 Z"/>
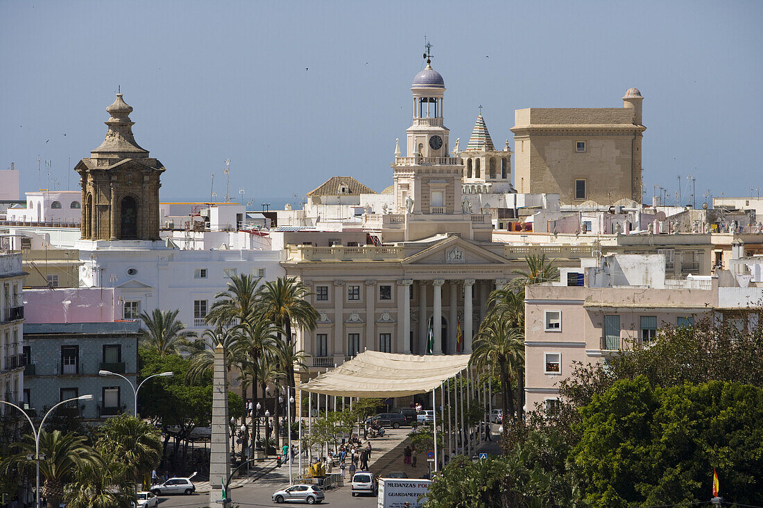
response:
<path id="1" fill-rule="evenodd" d="M 224 198 L 226 158 L 230 195 L 244 188 L 256 208 L 332 175 L 381 191 L 426 34 L 451 145 L 480 104 L 495 144 L 513 147 L 515 109 L 620 106 L 635 86 L 647 198 L 674 194 L 678 175 L 686 196 L 687 174 L 698 203 L 749 195 L 763 187 L 761 22 L 757 1 L 0 0 L 0 168 L 15 162 L 23 193 L 40 156 L 66 188 L 121 85 L 138 143 L 167 168 L 163 201 L 207 200 L 212 172 Z"/>

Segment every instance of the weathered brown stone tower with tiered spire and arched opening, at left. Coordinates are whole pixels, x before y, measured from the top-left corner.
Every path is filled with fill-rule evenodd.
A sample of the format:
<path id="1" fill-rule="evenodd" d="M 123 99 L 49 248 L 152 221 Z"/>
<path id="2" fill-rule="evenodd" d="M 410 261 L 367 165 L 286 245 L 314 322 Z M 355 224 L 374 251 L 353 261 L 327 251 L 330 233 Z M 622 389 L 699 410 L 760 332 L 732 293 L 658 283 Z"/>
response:
<path id="1" fill-rule="evenodd" d="M 117 94 L 106 139 L 74 168 L 82 187 L 82 240 L 159 240 L 164 166 L 133 137 L 133 108 Z"/>

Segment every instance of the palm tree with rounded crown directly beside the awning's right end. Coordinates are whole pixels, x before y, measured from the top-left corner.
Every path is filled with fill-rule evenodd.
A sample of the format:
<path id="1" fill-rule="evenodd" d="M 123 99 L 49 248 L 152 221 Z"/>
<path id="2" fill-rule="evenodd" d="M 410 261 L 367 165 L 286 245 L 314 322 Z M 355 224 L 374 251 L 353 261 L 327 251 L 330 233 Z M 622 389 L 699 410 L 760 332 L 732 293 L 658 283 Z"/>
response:
<path id="1" fill-rule="evenodd" d="M 497 368 L 501 378 L 501 410 L 507 423 L 507 416 L 514 415 L 512 384 L 514 379 L 519 381 L 524 365 L 524 334 L 500 316 L 482 321 L 469 363 L 478 370 Z M 504 433 L 507 431 L 508 425 L 504 425 Z"/>

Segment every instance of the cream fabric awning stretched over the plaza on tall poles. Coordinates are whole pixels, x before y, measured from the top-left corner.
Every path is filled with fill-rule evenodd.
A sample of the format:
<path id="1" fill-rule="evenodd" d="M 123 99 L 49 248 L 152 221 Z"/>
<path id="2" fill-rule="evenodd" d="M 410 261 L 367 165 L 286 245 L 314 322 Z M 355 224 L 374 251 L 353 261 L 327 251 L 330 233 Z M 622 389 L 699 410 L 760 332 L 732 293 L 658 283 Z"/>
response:
<path id="1" fill-rule="evenodd" d="M 432 391 L 468 362 L 469 355 L 365 351 L 298 388 L 336 397 L 406 397 Z"/>

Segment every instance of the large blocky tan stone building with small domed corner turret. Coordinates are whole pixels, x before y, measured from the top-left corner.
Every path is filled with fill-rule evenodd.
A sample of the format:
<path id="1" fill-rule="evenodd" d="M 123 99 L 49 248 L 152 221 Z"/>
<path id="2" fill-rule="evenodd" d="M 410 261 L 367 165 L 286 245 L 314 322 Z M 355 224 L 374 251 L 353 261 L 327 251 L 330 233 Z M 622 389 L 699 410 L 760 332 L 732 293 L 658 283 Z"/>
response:
<path id="1" fill-rule="evenodd" d="M 642 199 L 641 92 L 623 108 L 526 108 L 515 111 L 514 186 L 551 192 L 563 204 Z"/>

